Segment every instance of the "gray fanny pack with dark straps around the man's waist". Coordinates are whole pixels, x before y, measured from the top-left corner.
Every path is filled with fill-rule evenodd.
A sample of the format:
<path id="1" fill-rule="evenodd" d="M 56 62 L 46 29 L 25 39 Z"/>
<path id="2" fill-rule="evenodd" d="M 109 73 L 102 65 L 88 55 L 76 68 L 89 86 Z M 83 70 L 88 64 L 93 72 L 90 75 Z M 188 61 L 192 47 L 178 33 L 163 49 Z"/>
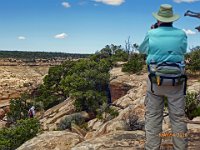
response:
<path id="1" fill-rule="evenodd" d="M 152 92 L 152 83 L 158 86 L 177 86 L 184 83 L 184 94 L 186 94 L 187 76 L 185 74 L 184 63 L 150 63 L 148 65 L 148 70 Z"/>

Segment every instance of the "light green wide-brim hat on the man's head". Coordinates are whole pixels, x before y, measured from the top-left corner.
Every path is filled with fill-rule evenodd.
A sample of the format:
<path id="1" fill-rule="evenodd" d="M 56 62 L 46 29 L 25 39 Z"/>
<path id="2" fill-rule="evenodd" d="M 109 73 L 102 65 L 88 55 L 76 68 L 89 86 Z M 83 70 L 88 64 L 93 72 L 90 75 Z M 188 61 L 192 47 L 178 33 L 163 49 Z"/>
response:
<path id="1" fill-rule="evenodd" d="M 172 6 L 169 4 L 162 4 L 157 13 L 152 13 L 153 16 L 161 22 L 174 22 L 180 18 L 178 14 L 173 13 Z"/>

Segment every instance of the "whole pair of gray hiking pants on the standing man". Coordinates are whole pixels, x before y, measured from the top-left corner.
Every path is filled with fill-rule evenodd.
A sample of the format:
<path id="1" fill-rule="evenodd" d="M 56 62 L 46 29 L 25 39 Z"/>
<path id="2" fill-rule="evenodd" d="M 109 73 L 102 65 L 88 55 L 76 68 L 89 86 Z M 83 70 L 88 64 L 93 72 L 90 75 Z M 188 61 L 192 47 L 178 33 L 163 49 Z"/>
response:
<path id="1" fill-rule="evenodd" d="M 178 86 L 157 86 L 153 84 L 151 91 L 151 83 L 147 82 L 147 94 L 145 98 L 145 131 L 146 131 L 146 150 L 159 150 L 162 138 L 162 121 L 164 110 L 164 96 L 168 99 L 168 111 L 172 133 L 170 133 L 173 141 L 174 150 L 187 149 L 187 137 L 181 135 L 187 132 L 186 123 L 180 121 L 185 116 L 185 96 L 183 94 L 183 85 Z"/>

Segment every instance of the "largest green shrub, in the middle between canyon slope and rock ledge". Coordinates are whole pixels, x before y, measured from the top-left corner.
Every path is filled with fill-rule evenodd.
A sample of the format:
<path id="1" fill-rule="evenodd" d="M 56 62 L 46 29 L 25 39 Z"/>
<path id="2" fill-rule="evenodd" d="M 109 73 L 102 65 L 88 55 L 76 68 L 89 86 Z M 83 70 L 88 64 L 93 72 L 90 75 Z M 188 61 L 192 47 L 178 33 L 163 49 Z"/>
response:
<path id="1" fill-rule="evenodd" d="M 33 97 L 46 110 L 70 96 L 75 99 L 76 111 L 96 115 L 97 109 L 108 101 L 109 71 L 113 61 L 127 59 L 128 55 L 121 46 L 111 44 L 87 59 L 66 61 L 51 67 Z"/>

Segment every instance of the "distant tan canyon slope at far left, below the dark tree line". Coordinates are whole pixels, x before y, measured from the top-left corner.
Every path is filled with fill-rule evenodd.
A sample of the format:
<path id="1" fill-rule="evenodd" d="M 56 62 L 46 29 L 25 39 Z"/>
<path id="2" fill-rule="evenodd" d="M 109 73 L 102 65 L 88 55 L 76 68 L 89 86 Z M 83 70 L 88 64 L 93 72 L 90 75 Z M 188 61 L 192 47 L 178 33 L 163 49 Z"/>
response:
<path id="1" fill-rule="evenodd" d="M 50 66 L 61 64 L 65 59 L 35 59 L 35 61 L 0 59 L 0 108 L 9 105 L 10 99 L 20 97 L 42 83 Z"/>

